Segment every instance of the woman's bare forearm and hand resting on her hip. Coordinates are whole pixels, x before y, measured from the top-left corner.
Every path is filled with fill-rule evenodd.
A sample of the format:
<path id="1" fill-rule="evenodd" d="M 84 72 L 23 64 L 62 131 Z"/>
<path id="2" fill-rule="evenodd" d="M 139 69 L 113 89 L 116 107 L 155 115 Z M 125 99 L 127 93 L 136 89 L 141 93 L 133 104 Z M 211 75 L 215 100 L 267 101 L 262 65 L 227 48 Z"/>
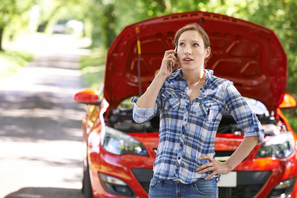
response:
<path id="1" fill-rule="evenodd" d="M 258 141 L 259 139 L 257 136 L 245 137 L 236 149 L 236 151 L 234 151 L 230 158 L 225 162 L 217 161 L 216 159 L 210 156 L 200 157 L 199 160 L 208 159 L 210 162 L 200 166 L 197 169 L 197 171 L 199 171 L 198 173 L 200 174 L 212 170 L 213 172 L 210 175 L 208 175 L 205 179 L 210 179 L 212 176 L 216 174 L 227 174 L 249 155 L 249 153 L 257 145 Z"/>

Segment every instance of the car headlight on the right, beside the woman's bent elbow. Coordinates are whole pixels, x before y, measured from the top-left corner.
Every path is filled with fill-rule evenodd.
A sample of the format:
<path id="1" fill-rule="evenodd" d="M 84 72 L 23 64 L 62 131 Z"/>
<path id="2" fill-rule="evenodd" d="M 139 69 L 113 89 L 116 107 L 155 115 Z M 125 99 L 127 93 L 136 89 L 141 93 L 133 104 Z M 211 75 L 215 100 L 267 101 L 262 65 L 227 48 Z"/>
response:
<path id="1" fill-rule="evenodd" d="M 259 149 L 256 158 L 285 158 L 294 152 L 294 137 L 290 132 L 277 135 L 265 142 Z"/>

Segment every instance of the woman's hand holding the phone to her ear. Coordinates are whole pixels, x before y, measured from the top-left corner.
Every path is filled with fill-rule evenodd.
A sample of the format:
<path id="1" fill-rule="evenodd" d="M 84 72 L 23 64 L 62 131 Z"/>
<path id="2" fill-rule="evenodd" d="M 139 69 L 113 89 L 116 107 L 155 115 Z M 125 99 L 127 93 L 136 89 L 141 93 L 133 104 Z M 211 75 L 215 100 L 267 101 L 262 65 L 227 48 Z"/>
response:
<path id="1" fill-rule="evenodd" d="M 172 73 L 170 72 L 170 62 L 172 62 L 172 70 L 173 67 L 176 66 L 176 57 L 174 54 L 177 52 L 174 50 L 165 51 L 164 58 L 162 60 L 161 68 L 158 72 L 159 75 L 162 75 L 168 78 Z"/>

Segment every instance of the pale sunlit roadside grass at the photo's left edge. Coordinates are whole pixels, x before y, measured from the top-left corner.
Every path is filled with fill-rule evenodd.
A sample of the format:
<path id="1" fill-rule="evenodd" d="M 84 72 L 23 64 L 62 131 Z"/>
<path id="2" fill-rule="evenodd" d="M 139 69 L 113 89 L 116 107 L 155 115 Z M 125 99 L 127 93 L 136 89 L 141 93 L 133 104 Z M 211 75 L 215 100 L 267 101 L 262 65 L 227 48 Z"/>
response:
<path id="1" fill-rule="evenodd" d="M 10 76 L 18 69 L 32 61 L 34 55 L 27 51 L 1 51 L 0 52 L 0 78 Z"/>

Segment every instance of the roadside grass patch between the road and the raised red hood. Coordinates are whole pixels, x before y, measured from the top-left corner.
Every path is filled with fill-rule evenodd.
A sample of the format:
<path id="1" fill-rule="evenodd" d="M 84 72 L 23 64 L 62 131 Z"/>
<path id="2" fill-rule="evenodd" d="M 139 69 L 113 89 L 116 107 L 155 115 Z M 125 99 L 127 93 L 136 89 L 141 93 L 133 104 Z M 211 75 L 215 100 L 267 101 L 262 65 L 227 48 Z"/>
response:
<path id="1" fill-rule="evenodd" d="M 90 55 L 81 56 L 81 83 L 84 87 L 99 89 L 102 85 L 106 52 L 103 48 L 93 48 Z"/>

